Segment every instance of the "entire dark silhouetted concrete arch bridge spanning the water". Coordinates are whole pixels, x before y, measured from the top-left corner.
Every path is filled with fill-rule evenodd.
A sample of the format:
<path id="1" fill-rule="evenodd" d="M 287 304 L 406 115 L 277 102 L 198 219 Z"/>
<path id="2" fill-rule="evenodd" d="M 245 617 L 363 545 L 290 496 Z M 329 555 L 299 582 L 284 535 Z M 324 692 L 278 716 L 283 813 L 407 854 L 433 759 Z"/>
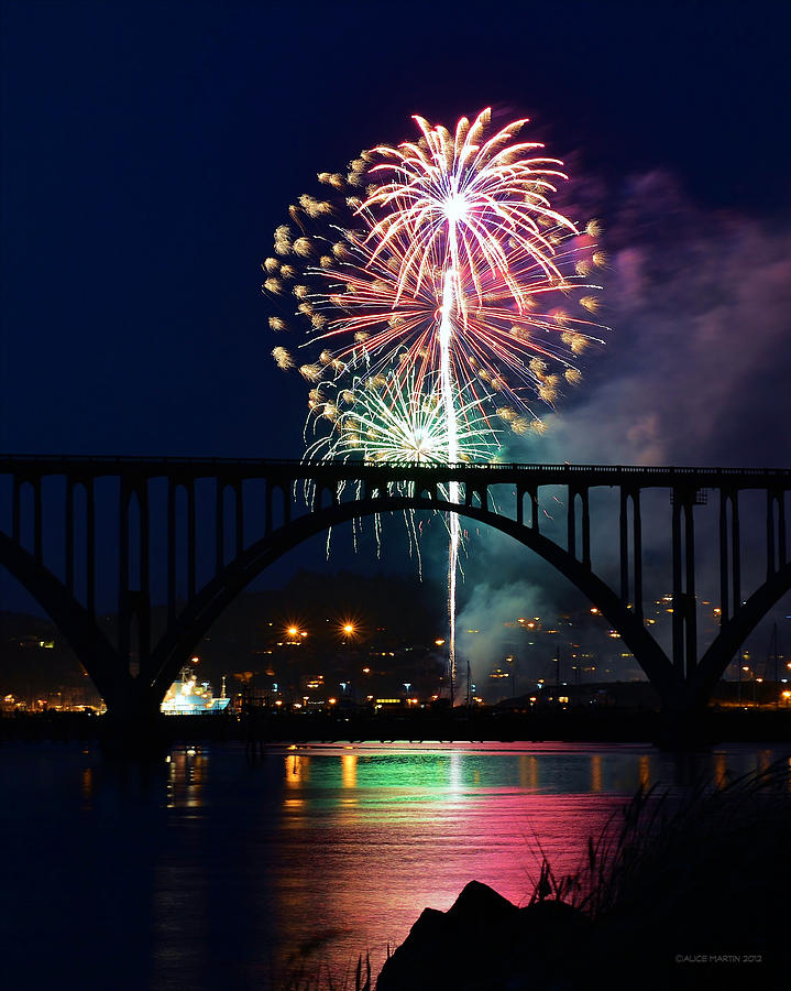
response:
<path id="1" fill-rule="evenodd" d="M 443 497 L 451 481 L 459 503 Z M 615 501 L 608 516 L 598 509 L 603 491 Z M 213 621 L 268 565 L 315 534 L 375 513 L 452 510 L 524 544 L 601 610 L 668 710 L 705 704 L 745 639 L 791 589 L 789 469 L 17 455 L 0 458 L 0 565 L 57 624 L 108 710 L 129 719 L 156 711 Z M 667 511 L 646 541 L 651 500 Z M 713 536 L 700 556 L 716 570 L 721 614 L 701 650 L 702 513 Z M 760 531 L 762 557 L 749 588 L 745 575 L 756 563 L 754 554 L 750 568 L 743 560 L 747 522 Z M 664 559 L 670 578 L 669 651 L 646 621 L 645 603 L 666 590 L 644 587 L 655 570 L 648 554 Z M 156 635 L 154 576 L 164 576 L 166 600 Z M 102 597 L 117 602 L 112 639 L 97 616 L 99 581 Z"/>

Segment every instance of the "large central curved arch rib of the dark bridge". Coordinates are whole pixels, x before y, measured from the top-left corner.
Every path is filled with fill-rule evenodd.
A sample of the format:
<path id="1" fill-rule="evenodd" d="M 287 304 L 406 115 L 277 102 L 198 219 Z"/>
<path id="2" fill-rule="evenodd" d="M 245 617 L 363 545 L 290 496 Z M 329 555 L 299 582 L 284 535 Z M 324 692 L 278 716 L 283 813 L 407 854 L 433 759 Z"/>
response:
<path id="1" fill-rule="evenodd" d="M 667 701 L 675 699 L 678 704 L 682 686 L 664 651 L 640 620 L 587 565 L 576 560 L 537 530 L 501 516 L 485 504 L 475 507 L 469 503 L 452 503 L 430 498 L 422 492 L 417 496 L 375 496 L 354 502 L 321 507 L 251 545 L 196 595 L 156 646 L 150 668 L 153 675 L 152 691 L 158 698 L 164 696 L 184 658 L 197 649 L 215 620 L 254 578 L 283 554 L 340 523 L 376 513 L 403 510 L 455 512 L 499 530 L 534 551 L 564 575 L 601 610 L 613 629 L 620 633 L 624 643 L 635 655 L 662 699 Z"/>

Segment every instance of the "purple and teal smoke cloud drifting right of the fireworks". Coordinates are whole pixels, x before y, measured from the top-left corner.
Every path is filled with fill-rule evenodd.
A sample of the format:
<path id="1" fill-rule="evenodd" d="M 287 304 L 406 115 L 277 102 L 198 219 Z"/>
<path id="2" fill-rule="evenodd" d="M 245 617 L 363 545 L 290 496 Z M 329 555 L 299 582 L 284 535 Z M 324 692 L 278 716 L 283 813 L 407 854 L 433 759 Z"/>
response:
<path id="1" fill-rule="evenodd" d="M 791 222 L 706 211 L 661 171 L 629 179 L 602 214 L 609 269 L 601 320 L 613 327 L 606 348 L 591 355 L 582 388 L 543 417 L 546 434 L 513 438 L 504 459 L 791 465 Z M 664 534 L 648 531 L 645 540 L 648 557 Z M 701 558 L 710 554 L 703 543 Z M 743 551 L 745 560 L 763 553 L 758 543 Z M 481 684 L 513 650 L 506 623 L 558 616 L 575 593 L 498 533 L 471 542 L 465 568 L 460 668 L 469 657 Z M 781 620 L 791 612 L 783 606 Z M 465 632 L 475 629 L 487 635 Z M 615 675 L 634 667 L 616 663 Z"/>

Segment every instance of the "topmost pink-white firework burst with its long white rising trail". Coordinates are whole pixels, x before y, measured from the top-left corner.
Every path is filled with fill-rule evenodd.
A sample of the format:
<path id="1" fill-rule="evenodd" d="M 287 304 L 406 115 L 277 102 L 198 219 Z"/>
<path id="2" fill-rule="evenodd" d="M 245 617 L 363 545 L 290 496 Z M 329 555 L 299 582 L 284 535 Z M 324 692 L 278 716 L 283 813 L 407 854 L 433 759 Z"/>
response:
<path id="1" fill-rule="evenodd" d="M 508 254 L 513 249 L 523 251 L 536 262 L 543 275 L 563 281 L 552 260 L 550 242 L 542 238 L 526 206 L 538 209 L 551 219 L 576 232 L 574 225 L 561 215 L 548 211 L 542 196 L 532 192 L 523 196 L 517 205 L 510 198 L 513 185 L 519 175 L 520 153 L 531 151 L 535 144 L 502 145 L 510 139 L 524 121 L 516 121 L 503 129 L 488 142 L 479 145 L 477 135 L 488 122 L 484 112 L 470 128 L 462 119 L 455 137 L 438 126 L 416 118 L 422 131 L 426 151 L 419 145 L 405 144 L 399 149 L 381 148 L 377 151 L 395 160 L 373 171 L 392 171 L 389 183 L 376 189 L 361 209 L 375 205 L 397 208 L 388 210 L 374 226 L 367 241 L 375 244 L 372 259 L 384 253 L 402 236 L 408 241 L 399 252 L 398 288 L 395 302 L 400 301 L 409 280 L 417 290 L 433 266 L 443 273 L 442 297 L 439 308 L 439 366 L 442 405 L 444 410 L 447 457 L 450 464 L 458 460 L 457 412 L 454 393 L 459 388 L 452 363 L 453 339 L 457 325 L 468 325 L 468 313 L 474 302 L 483 304 L 484 284 L 490 274 L 501 284 L 501 295 L 513 298 L 517 312 L 526 307 L 526 294 L 515 273 L 508 268 Z M 536 162 L 531 162 L 535 165 Z M 546 164 L 541 161 L 541 164 Z M 550 164 L 554 164 L 550 162 Z M 529 172 L 530 178 L 535 176 Z M 545 173 L 547 174 L 547 173 Z M 556 174 L 551 172 L 550 174 Z M 503 195 L 505 185 L 506 196 Z M 499 194 L 499 195 L 498 195 Z M 494 219 L 495 226 L 492 227 Z M 487 222 L 488 221 L 488 222 Z M 531 237 L 521 233 L 527 227 Z M 505 238 L 504 238 L 505 233 Z M 507 246 L 503 241 L 507 239 Z M 507 249 L 512 249 L 509 252 Z M 464 279 L 464 274 L 466 280 Z M 472 283 L 472 291 L 464 293 L 464 282 Z M 450 501 L 459 502 L 459 484 L 450 482 Z M 448 553 L 448 620 L 449 620 L 449 677 L 451 704 L 457 680 L 455 657 L 455 591 L 459 557 L 459 516 L 450 513 L 450 541 Z M 470 700 L 468 677 L 468 700 Z"/>

